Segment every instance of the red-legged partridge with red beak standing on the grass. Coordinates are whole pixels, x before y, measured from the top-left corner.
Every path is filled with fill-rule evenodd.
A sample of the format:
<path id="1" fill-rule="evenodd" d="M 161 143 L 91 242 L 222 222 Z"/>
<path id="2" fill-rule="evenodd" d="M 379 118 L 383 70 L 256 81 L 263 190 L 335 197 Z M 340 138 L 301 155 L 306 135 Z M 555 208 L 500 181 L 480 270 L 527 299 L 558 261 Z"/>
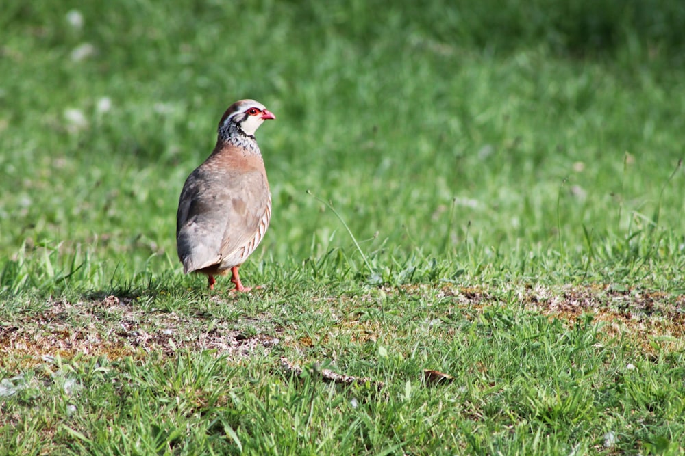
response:
<path id="1" fill-rule="evenodd" d="M 271 192 L 255 131 L 275 119 L 255 100 L 239 100 L 219 121 L 216 146 L 184 183 L 176 213 L 176 247 L 184 273 L 231 272 L 232 291 L 247 292 L 238 268 L 264 239 L 271 220 Z M 258 287 L 259 288 L 259 287 Z"/>

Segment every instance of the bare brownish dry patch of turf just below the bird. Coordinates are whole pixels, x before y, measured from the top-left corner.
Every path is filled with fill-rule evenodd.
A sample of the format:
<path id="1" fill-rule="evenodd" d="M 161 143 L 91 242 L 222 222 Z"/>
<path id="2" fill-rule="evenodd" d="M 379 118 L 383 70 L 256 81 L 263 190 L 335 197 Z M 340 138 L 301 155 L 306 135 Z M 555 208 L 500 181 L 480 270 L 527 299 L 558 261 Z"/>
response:
<path id="1" fill-rule="evenodd" d="M 0 323 L 0 366 L 18 362 L 33 366 L 46 358 L 127 356 L 145 358 L 157 352 L 171 356 L 179 349 L 215 350 L 245 356 L 256 347 L 278 343 L 275 336 L 245 335 L 233 321 L 212 320 L 177 312 L 147 312 L 129 297 L 97 301 L 53 301 L 49 310 Z"/>

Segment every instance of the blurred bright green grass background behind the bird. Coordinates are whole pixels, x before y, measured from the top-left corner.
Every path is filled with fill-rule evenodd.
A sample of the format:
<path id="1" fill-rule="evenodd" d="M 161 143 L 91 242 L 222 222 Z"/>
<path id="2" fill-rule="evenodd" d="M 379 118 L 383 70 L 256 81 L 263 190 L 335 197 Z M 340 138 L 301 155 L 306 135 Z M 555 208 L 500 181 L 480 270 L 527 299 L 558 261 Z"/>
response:
<path id="1" fill-rule="evenodd" d="M 179 191 L 239 98 L 277 116 L 252 273 L 363 269 L 310 190 L 381 280 L 682 288 L 680 1 L 10 0 L 0 28 L 4 291 L 178 278 Z"/>

